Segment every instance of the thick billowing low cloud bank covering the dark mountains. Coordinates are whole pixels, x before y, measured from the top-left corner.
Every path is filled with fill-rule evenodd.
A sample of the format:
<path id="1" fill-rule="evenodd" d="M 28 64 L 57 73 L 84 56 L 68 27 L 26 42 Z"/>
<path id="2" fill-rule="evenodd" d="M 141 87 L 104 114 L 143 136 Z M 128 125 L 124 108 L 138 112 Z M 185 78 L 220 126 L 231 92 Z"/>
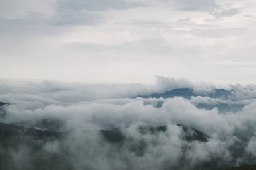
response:
<path id="1" fill-rule="evenodd" d="M 182 88 L 201 95 L 141 97 Z M 230 95 L 209 97 L 215 89 Z M 256 85 L 220 87 L 166 77 L 157 77 L 156 85 L 1 80 L 0 101 L 10 103 L 1 106 L 2 123 L 67 136 L 42 142 L 36 156 L 26 144 L 9 151 L 1 148 L 0 153 L 9 155 L 9 164 L 21 169 L 35 168 L 33 157 L 49 163 L 53 155 L 70 169 L 217 169 L 254 164 L 255 99 Z M 220 112 L 218 105 L 240 108 Z M 141 132 L 145 127 L 151 131 Z M 152 132 L 157 127 L 165 130 Z M 122 140 L 110 142 L 100 130 Z M 207 140 L 186 140 L 188 134 L 201 134 Z"/>

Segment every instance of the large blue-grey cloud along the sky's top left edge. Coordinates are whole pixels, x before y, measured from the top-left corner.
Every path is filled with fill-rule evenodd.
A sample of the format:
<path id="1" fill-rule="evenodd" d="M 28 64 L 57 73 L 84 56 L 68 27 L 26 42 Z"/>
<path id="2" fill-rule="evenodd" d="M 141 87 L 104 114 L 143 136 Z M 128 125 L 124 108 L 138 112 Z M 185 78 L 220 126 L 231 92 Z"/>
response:
<path id="1" fill-rule="evenodd" d="M 108 9 L 127 9 L 131 7 L 145 6 L 142 2 L 136 1 L 46 1 L 40 3 L 39 1 L 29 1 L 30 5 L 24 6 L 20 4 L 14 4 L 10 1 L 3 1 L 3 5 L 11 8 L 18 8 L 15 11 L 15 15 L 9 13 L 6 9 L 3 10 L 3 15 L 0 18 L 1 28 L 13 29 L 17 28 L 17 24 L 22 26 L 24 30 L 28 32 L 34 32 L 33 28 L 37 28 L 36 34 L 40 34 L 38 29 L 46 30 L 49 32 L 55 27 L 59 26 L 77 26 L 77 25 L 94 25 L 99 24 L 106 20 L 104 15 L 99 11 L 105 11 Z M 31 29 L 30 29 L 31 28 Z M 23 30 L 23 29 L 22 29 Z M 3 30 L 2 30 L 3 32 Z M 6 31 L 5 31 L 6 32 Z"/>

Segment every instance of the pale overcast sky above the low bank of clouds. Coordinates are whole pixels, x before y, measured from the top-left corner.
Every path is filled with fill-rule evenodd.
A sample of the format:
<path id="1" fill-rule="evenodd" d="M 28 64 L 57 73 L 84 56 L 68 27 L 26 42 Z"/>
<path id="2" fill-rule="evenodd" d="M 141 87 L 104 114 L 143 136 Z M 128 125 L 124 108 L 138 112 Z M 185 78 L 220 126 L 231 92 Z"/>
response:
<path id="1" fill-rule="evenodd" d="M 0 0 L 0 78 L 256 83 L 255 0 Z"/>

